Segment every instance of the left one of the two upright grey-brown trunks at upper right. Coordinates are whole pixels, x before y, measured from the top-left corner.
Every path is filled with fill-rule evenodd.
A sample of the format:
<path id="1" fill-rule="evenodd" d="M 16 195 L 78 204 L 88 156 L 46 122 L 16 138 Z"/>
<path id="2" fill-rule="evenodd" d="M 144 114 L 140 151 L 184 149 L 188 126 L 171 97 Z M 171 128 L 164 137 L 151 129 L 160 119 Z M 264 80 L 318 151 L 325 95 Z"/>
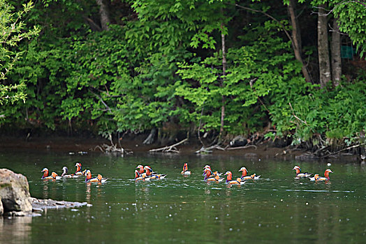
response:
<path id="1" fill-rule="evenodd" d="M 319 6 L 318 10 L 318 56 L 319 56 L 319 79 L 323 88 L 331 79 L 329 45 L 328 45 L 328 26 L 327 16 L 325 15 L 325 5 Z"/>

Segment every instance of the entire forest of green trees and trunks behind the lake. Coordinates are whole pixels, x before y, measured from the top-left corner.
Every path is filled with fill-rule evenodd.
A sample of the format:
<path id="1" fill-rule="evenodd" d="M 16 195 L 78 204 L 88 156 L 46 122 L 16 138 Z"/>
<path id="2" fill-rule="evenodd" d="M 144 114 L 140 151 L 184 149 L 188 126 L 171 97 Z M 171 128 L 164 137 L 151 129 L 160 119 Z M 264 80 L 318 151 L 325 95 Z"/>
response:
<path id="1" fill-rule="evenodd" d="M 366 3 L 0 0 L 3 135 L 363 150 Z"/>

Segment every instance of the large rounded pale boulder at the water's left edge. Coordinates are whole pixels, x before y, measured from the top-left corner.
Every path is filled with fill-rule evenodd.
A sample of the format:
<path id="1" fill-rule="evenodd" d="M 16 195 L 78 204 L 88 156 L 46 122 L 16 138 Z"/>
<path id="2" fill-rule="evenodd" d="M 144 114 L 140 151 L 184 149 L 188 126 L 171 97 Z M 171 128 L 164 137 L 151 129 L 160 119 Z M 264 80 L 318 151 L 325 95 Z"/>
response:
<path id="1" fill-rule="evenodd" d="M 27 177 L 9 169 L 0 169 L 0 199 L 3 212 L 31 213 L 31 195 Z M 1 209 L 0 209 L 1 210 Z"/>

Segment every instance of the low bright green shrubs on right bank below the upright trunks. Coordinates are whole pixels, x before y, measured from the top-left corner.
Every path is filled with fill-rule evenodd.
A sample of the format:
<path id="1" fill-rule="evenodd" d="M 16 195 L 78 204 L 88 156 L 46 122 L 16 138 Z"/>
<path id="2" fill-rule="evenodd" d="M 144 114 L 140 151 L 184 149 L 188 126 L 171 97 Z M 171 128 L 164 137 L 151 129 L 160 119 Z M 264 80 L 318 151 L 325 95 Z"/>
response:
<path id="1" fill-rule="evenodd" d="M 365 89 L 365 82 L 356 82 L 328 91 L 309 86 L 304 96 L 291 92 L 287 104 L 276 103 L 270 107 L 277 135 L 293 133 L 295 144 L 306 142 L 314 135 L 354 141 L 360 131 L 366 130 Z"/>

